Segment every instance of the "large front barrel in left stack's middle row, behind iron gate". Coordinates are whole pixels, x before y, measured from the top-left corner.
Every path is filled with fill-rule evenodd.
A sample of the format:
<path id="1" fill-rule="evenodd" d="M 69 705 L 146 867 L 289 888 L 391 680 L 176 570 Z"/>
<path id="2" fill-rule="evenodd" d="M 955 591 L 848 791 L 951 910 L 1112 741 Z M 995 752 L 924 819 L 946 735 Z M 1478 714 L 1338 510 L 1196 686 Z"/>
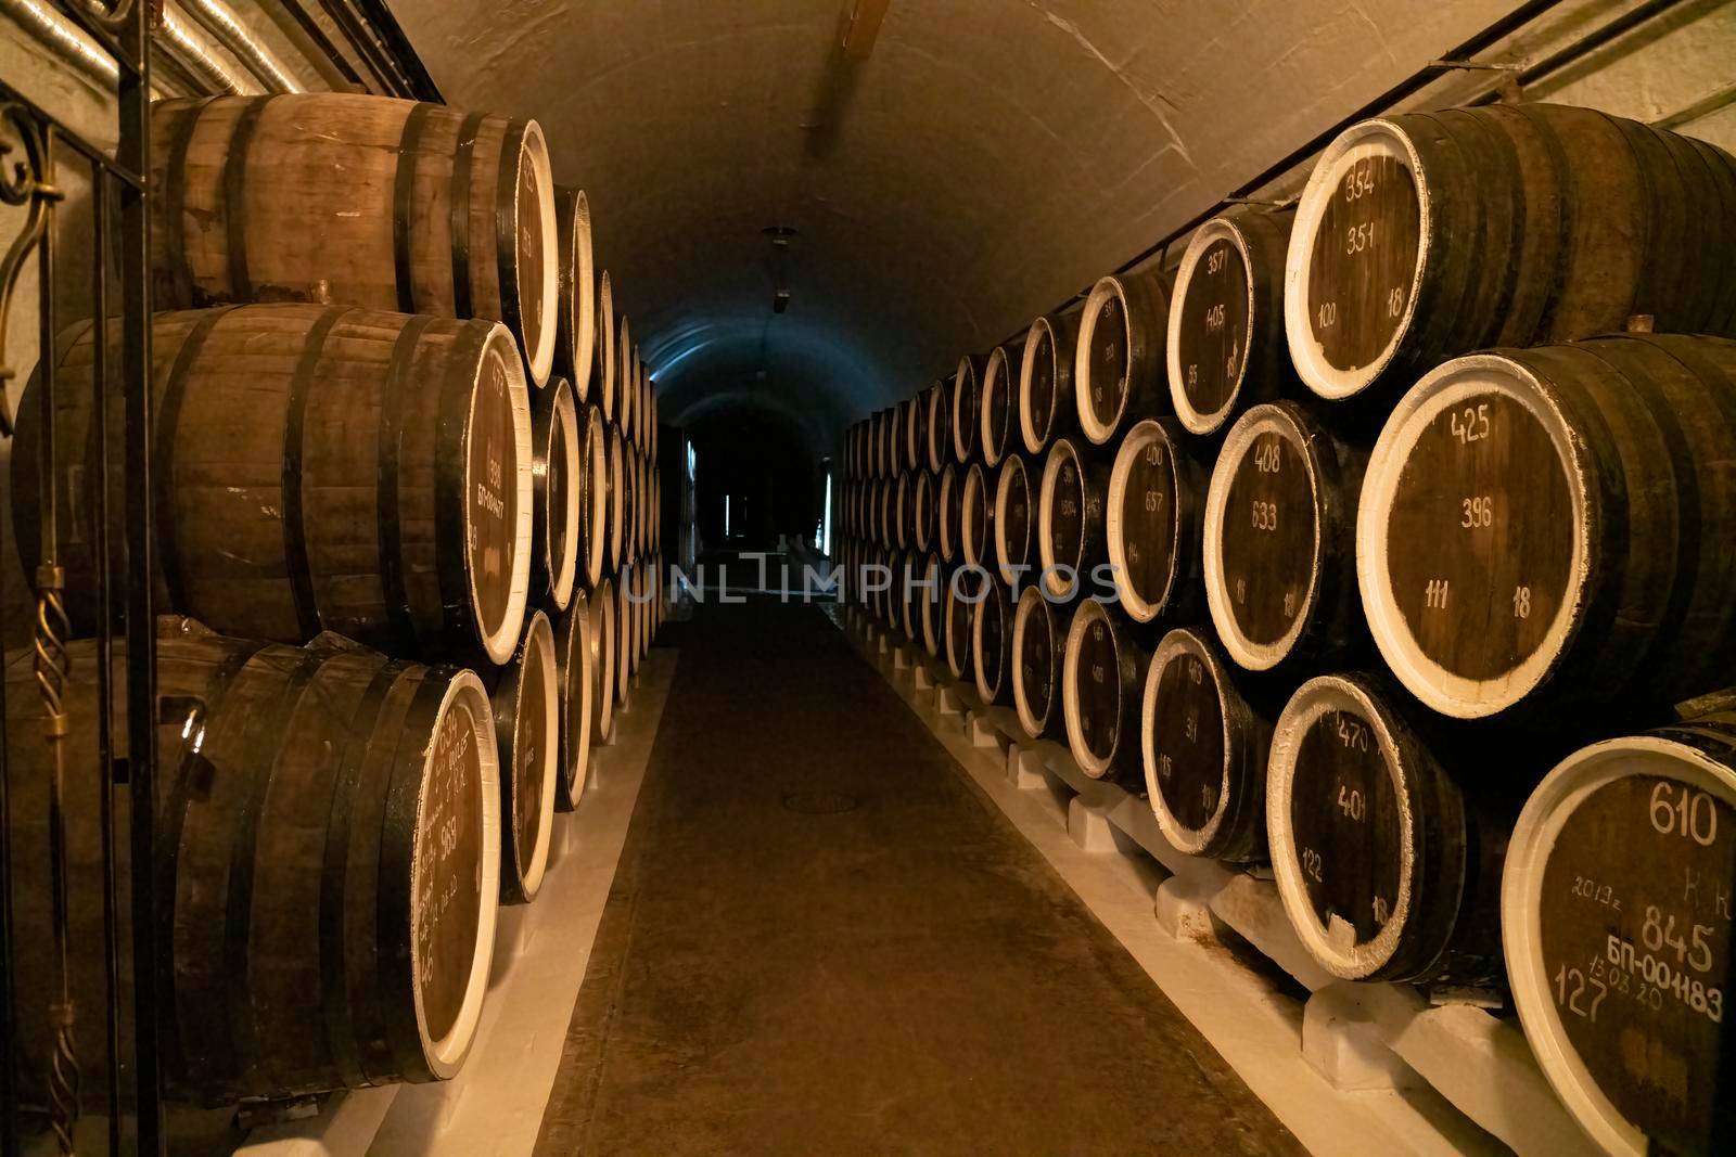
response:
<path id="1" fill-rule="evenodd" d="M 118 349 L 118 323 L 111 323 Z M 61 337 L 61 560 L 78 630 L 90 555 L 94 330 Z M 156 604 L 217 630 L 340 631 L 394 654 L 505 663 L 531 567 L 531 415 L 512 335 L 486 321 L 321 305 L 156 314 Z M 437 383 L 437 385 L 436 385 Z M 35 572 L 42 390 L 12 449 L 19 550 Z M 123 406 L 109 444 L 123 442 Z M 64 454 L 66 448 L 83 448 Z M 122 503 L 109 503 L 123 541 Z"/>

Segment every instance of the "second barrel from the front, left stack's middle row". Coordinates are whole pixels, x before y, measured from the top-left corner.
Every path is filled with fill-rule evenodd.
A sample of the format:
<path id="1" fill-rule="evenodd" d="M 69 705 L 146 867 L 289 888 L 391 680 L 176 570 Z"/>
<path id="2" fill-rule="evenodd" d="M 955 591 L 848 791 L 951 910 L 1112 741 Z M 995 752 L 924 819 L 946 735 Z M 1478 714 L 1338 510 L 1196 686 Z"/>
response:
<path id="1" fill-rule="evenodd" d="M 573 600 L 578 579 L 585 468 L 573 390 L 554 378 L 531 409 L 531 590 L 556 611 Z"/>

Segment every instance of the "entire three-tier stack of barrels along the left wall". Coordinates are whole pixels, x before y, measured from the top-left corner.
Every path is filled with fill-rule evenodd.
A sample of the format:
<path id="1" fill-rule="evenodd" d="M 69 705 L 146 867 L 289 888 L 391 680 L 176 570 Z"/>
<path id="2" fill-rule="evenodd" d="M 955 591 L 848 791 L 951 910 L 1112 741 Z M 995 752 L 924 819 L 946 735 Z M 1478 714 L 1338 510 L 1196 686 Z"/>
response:
<path id="1" fill-rule="evenodd" d="M 594 267 L 585 193 L 554 186 L 533 120 L 311 94 L 163 101 L 151 134 L 170 1091 L 446 1079 L 479 1023 L 496 909 L 543 890 L 557 812 L 578 807 L 661 621 L 651 378 Z M 42 463 L 40 375 L 12 454 L 28 574 L 45 465 L 59 487 L 75 635 L 106 614 L 99 343 L 118 347 L 118 323 L 76 323 L 52 354 L 57 460 Z M 101 661 L 90 642 L 69 654 L 64 755 L 87 767 Z M 28 657 L 7 675 L 31 768 L 12 782 L 47 791 Z M 66 782 L 89 944 L 97 801 Z M 31 850 L 14 866 L 45 866 L 47 807 L 10 815 Z M 50 888 L 33 883 L 14 888 L 42 900 L 21 912 L 21 968 L 50 992 Z M 76 1008 L 104 1006 L 101 968 L 68 980 Z M 45 1016 L 19 1010 L 36 1086 Z"/>

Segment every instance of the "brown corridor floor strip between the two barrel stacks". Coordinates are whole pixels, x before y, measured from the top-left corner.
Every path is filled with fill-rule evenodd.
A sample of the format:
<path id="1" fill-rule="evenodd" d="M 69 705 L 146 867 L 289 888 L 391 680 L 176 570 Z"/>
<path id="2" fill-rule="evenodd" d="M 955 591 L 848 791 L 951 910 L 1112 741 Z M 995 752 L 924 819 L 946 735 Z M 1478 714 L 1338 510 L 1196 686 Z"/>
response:
<path id="1" fill-rule="evenodd" d="M 1300 1154 L 814 607 L 682 657 L 538 1154 Z"/>

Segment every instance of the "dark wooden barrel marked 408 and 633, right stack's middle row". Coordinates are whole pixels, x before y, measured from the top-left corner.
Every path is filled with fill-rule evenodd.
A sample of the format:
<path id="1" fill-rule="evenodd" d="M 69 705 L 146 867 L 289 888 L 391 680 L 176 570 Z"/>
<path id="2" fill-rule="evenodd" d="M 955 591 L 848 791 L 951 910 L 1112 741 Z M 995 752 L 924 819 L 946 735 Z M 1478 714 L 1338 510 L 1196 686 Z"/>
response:
<path id="1" fill-rule="evenodd" d="M 1354 536 L 1366 463 L 1297 402 L 1255 406 L 1229 428 L 1205 501 L 1205 593 L 1240 666 L 1316 666 L 1364 647 Z"/>

